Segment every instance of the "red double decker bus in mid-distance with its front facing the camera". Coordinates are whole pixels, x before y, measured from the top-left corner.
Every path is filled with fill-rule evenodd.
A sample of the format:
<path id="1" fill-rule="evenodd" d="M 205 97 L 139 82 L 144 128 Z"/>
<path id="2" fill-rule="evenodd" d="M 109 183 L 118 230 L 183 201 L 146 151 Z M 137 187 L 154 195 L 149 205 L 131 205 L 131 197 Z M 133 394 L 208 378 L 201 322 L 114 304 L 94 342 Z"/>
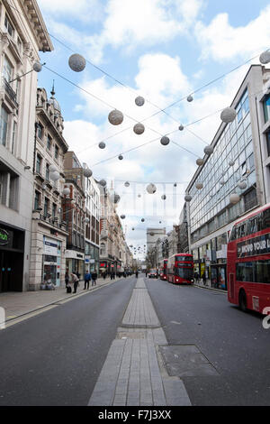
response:
<path id="1" fill-rule="evenodd" d="M 166 280 L 176 284 L 193 284 L 193 255 L 176 253 L 167 260 Z"/>

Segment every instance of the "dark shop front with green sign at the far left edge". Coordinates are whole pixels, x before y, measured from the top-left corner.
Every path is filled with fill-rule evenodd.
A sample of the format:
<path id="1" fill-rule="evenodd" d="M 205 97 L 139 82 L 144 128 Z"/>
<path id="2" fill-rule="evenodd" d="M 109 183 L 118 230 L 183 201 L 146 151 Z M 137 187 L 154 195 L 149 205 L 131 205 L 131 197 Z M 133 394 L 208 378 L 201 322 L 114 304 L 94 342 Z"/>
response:
<path id="1" fill-rule="evenodd" d="M 0 292 L 23 291 L 24 231 L 0 223 Z"/>

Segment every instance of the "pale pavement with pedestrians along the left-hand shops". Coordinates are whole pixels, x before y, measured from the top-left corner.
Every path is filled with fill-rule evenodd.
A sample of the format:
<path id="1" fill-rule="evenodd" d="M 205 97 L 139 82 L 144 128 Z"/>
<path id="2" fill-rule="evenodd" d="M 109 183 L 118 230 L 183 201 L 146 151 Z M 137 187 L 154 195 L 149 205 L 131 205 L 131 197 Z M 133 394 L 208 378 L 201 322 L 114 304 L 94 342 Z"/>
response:
<path id="1" fill-rule="evenodd" d="M 110 278 L 106 278 L 105 280 L 99 278 L 96 280 L 95 286 L 91 286 L 92 282 L 90 281 L 89 290 L 84 290 L 85 281 L 80 281 L 76 294 L 67 293 L 66 287 L 58 287 L 56 290 L 4 292 L 0 293 L 0 307 L 4 308 L 5 321 L 9 321 L 34 310 L 45 308 L 60 300 L 75 299 L 77 296 L 84 295 L 91 290 L 121 279 L 122 277 L 116 277 L 115 280 L 111 281 Z"/>

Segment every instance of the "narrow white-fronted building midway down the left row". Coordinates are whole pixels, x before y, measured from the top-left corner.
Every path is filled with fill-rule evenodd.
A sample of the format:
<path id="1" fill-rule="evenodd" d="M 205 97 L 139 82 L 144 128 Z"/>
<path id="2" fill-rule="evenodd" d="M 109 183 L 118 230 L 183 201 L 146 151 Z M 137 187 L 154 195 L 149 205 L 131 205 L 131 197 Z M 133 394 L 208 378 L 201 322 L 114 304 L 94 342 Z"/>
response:
<path id="1" fill-rule="evenodd" d="M 99 185 L 93 176 L 85 177 L 85 271 L 90 272 L 99 272 L 100 208 Z"/>

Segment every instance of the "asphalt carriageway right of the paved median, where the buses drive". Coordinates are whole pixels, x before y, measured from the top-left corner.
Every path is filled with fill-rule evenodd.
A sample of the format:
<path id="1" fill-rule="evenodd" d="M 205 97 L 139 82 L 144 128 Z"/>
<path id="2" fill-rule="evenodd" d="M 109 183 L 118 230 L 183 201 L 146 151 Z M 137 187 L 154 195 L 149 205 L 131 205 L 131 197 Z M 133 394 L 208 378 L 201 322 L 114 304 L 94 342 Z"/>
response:
<path id="1" fill-rule="evenodd" d="M 182 377 L 193 405 L 270 405 L 270 329 L 261 315 L 223 293 L 145 281 L 168 343 L 197 346 L 217 372 Z"/>

